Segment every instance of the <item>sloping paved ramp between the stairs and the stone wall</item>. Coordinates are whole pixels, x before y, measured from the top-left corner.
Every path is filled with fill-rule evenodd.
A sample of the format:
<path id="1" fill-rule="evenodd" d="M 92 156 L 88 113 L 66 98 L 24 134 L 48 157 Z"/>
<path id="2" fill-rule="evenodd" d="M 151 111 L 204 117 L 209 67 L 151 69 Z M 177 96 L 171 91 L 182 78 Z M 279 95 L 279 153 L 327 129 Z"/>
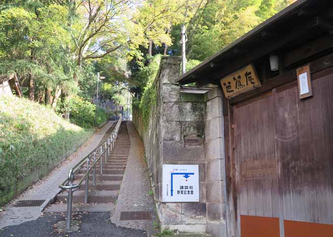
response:
<path id="1" fill-rule="evenodd" d="M 145 162 L 143 143 L 133 124 L 127 122 L 127 130 L 131 141 L 130 153 L 121 184 L 116 211 L 111 221 L 118 226 L 142 229 L 150 236 L 153 232 L 153 221 L 157 221 L 154 201 L 148 194 L 150 182 L 148 167 Z M 121 212 L 150 211 L 152 220 L 121 221 Z"/>

